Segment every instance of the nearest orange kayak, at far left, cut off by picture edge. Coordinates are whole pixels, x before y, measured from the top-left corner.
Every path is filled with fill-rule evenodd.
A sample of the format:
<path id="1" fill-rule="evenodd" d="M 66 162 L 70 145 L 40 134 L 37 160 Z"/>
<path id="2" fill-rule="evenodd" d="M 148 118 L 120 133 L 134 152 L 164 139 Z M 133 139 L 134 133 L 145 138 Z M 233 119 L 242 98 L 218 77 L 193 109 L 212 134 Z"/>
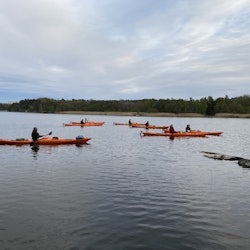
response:
<path id="1" fill-rule="evenodd" d="M 84 137 L 76 137 L 75 139 L 64 139 L 58 137 L 44 137 L 37 140 L 35 143 L 30 139 L 15 139 L 15 140 L 8 140 L 8 139 L 0 139 L 0 145 L 68 145 L 68 144 L 75 144 L 75 145 L 82 145 L 87 144 L 87 142 L 91 140 L 91 138 L 84 138 Z"/>

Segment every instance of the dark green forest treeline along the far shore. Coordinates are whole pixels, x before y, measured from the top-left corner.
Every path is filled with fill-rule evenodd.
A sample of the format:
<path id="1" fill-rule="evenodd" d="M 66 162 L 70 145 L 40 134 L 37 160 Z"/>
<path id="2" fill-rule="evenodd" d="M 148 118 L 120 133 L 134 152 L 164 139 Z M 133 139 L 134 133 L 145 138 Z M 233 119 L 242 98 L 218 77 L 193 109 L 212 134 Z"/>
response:
<path id="1" fill-rule="evenodd" d="M 213 116 L 216 113 L 250 114 L 250 95 L 213 99 L 211 96 L 194 100 L 55 100 L 50 98 L 25 99 L 12 104 L 0 104 L 0 110 L 14 112 L 58 113 L 63 111 L 198 113 Z"/>

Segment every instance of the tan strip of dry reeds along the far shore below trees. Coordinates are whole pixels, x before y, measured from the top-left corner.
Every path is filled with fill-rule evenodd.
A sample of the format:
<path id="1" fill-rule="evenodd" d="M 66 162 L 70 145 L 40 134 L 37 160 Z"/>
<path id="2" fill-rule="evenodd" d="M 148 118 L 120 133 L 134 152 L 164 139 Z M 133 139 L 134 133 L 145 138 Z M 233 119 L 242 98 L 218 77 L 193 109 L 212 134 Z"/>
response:
<path id="1" fill-rule="evenodd" d="M 60 114 L 108 115 L 108 116 L 148 116 L 148 117 L 217 117 L 217 118 L 250 118 L 250 114 L 218 113 L 206 116 L 198 113 L 144 113 L 144 112 L 99 112 L 99 111 L 63 111 Z"/>

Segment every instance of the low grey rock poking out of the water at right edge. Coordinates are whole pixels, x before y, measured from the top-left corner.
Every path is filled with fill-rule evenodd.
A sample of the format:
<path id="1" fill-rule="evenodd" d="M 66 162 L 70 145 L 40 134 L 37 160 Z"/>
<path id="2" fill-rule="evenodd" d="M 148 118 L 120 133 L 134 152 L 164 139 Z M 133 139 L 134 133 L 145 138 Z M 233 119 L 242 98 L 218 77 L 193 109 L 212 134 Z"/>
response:
<path id="1" fill-rule="evenodd" d="M 250 160 L 244 159 L 238 156 L 224 155 L 214 152 L 201 151 L 205 157 L 212 158 L 215 160 L 226 160 L 226 161 L 238 161 L 238 165 L 243 168 L 250 168 Z"/>

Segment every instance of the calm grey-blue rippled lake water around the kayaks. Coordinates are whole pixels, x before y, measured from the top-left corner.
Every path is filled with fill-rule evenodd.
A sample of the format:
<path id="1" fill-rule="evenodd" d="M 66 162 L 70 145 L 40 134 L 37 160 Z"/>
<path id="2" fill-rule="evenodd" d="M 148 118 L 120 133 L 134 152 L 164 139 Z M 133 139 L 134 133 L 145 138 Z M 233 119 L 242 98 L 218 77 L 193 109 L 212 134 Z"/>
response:
<path id="1" fill-rule="evenodd" d="M 102 127 L 63 123 L 104 121 Z M 141 137 L 113 122 L 149 121 L 208 138 Z M 250 119 L 0 112 L 0 138 L 91 137 L 89 145 L 0 146 L 0 249 L 249 249 Z"/>

